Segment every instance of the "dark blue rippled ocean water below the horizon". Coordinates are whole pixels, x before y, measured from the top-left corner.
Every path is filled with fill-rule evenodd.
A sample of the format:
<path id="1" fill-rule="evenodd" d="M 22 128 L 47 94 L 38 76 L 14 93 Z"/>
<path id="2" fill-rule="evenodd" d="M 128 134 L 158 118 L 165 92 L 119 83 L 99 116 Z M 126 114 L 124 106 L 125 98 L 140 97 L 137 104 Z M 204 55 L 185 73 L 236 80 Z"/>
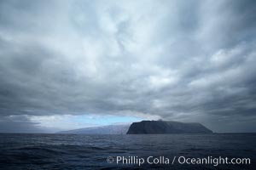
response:
<path id="1" fill-rule="evenodd" d="M 108 156 L 112 156 L 108 161 Z M 126 158 L 119 161 L 117 156 Z M 137 156 L 145 162 L 128 163 Z M 149 164 L 148 156 L 152 162 Z M 170 160 L 160 163 L 160 156 Z M 173 157 L 176 156 L 172 164 Z M 250 165 L 189 165 L 177 159 L 250 158 Z M 125 160 L 122 158 L 122 160 Z M 166 160 L 166 159 L 165 159 Z M 181 161 L 183 159 L 181 158 Z M 0 134 L 0 169 L 256 169 L 256 133 L 83 135 Z M 158 163 L 157 163 L 158 162 Z"/>

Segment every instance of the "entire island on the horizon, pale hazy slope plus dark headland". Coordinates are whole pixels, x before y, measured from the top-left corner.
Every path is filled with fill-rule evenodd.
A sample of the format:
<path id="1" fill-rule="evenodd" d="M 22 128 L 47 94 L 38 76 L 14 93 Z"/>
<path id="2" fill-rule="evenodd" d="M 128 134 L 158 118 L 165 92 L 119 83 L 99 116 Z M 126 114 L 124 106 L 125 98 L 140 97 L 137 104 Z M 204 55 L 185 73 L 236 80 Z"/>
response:
<path id="1" fill-rule="evenodd" d="M 85 127 L 58 133 L 76 134 L 160 134 L 160 133 L 212 133 L 198 122 L 142 121 L 131 124 Z"/>

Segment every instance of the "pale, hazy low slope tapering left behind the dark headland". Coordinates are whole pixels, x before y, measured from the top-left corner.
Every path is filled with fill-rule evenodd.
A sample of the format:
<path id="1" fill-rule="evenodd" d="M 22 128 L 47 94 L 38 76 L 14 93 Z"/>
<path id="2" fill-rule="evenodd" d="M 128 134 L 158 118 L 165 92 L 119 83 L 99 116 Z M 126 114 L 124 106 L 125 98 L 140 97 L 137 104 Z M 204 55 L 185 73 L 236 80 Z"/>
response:
<path id="1" fill-rule="evenodd" d="M 58 133 L 75 133 L 75 134 L 126 134 L 131 124 L 108 125 L 102 127 L 85 127 Z"/>

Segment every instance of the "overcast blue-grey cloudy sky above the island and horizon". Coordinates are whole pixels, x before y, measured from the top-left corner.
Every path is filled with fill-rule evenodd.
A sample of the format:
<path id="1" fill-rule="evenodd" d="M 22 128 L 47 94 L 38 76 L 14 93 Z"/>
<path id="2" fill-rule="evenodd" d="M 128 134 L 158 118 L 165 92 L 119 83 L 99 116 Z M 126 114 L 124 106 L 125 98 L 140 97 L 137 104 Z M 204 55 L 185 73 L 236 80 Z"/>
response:
<path id="1" fill-rule="evenodd" d="M 255 30 L 254 0 L 2 0 L 0 132 L 256 132 Z"/>

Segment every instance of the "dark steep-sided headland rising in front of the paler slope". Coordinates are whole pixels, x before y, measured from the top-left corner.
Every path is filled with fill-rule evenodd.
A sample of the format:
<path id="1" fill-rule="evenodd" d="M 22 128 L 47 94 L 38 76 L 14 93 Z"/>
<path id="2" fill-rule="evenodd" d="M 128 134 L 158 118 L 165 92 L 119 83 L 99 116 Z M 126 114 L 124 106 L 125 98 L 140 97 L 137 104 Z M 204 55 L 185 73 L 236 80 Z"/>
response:
<path id="1" fill-rule="evenodd" d="M 197 122 L 142 121 L 133 122 L 127 132 L 127 134 L 156 133 L 212 133 L 212 131 Z"/>

